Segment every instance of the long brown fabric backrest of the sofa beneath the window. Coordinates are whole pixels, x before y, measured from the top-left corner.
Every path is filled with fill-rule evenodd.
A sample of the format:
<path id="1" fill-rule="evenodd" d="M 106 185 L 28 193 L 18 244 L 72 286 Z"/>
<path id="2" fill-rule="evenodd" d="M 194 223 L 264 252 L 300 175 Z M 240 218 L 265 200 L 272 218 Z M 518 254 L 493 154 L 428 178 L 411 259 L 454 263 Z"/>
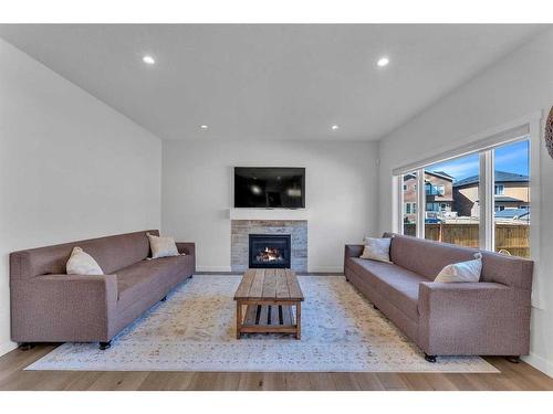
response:
<path id="1" fill-rule="evenodd" d="M 447 265 L 474 258 L 477 248 L 457 246 L 413 236 L 386 233 L 392 236 L 389 256 L 392 262 L 408 270 L 434 280 Z M 482 251 L 481 282 L 495 282 L 530 290 L 533 262 Z"/>

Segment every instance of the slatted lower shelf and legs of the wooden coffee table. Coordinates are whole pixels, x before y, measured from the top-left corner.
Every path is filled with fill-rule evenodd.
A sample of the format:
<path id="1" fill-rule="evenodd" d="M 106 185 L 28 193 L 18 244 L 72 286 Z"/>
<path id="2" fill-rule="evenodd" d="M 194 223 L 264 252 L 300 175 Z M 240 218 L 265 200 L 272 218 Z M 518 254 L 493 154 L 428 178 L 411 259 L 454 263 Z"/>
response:
<path id="1" fill-rule="evenodd" d="M 246 306 L 246 312 L 243 311 Z M 293 307 L 295 306 L 295 316 Z M 293 333 L 301 339 L 301 302 L 294 305 L 237 304 L 237 338 L 242 333 Z"/>

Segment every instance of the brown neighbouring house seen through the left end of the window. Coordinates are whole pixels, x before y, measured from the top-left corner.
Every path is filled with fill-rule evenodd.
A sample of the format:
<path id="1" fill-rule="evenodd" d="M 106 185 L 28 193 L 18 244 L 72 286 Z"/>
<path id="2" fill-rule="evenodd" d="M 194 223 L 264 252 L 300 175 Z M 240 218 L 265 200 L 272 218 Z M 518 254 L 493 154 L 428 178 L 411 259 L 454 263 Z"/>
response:
<path id="1" fill-rule="evenodd" d="M 425 171 L 426 217 L 441 219 L 452 211 L 453 178 L 444 171 Z M 417 215 L 417 177 L 404 176 L 404 220 L 414 223 Z"/>

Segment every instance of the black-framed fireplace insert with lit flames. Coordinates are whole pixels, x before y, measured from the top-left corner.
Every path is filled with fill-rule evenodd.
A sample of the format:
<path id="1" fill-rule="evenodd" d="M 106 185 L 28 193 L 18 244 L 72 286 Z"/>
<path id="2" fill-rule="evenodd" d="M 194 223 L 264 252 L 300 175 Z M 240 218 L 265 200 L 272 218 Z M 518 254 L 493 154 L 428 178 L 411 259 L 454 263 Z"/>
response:
<path id="1" fill-rule="evenodd" d="M 290 268 L 290 234 L 250 234 L 250 267 Z"/>

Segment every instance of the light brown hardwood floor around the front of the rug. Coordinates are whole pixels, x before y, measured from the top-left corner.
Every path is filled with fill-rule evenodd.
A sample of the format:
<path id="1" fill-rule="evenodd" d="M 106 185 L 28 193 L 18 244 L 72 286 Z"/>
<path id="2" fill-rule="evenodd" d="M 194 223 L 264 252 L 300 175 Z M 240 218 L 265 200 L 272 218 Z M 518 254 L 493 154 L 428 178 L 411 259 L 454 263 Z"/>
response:
<path id="1" fill-rule="evenodd" d="M 502 390 L 553 391 L 553 379 L 529 364 L 487 358 L 501 373 L 282 373 L 23 371 L 54 349 L 38 346 L 0 358 L 0 390 Z"/>

